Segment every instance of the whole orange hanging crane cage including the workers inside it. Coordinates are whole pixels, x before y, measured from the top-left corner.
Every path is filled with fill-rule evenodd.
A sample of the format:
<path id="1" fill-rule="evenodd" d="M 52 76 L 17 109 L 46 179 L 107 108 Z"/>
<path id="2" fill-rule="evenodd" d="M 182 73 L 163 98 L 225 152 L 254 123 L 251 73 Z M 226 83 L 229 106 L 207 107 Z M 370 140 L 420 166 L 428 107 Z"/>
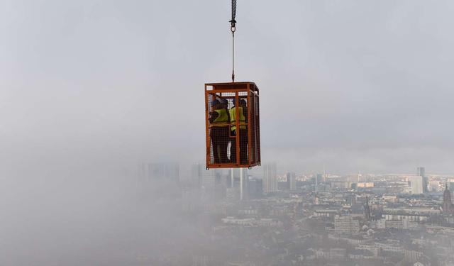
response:
<path id="1" fill-rule="evenodd" d="M 206 168 L 260 165 L 259 90 L 253 82 L 205 84 Z"/>

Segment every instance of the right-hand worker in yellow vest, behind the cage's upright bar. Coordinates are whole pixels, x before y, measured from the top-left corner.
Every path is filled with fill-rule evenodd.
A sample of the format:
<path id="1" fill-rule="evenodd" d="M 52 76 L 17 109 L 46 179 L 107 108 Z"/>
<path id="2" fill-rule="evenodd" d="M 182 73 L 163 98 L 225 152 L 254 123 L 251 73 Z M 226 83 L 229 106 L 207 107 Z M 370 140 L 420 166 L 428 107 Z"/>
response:
<path id="1" fill-rule="evenodd" d="M 246 117 L 247 113 L 247 104 L 246 101 L 241 99 L 238 106 L 238 116 L 240 129 L 237 131 L 236 128 L 236 104 L 233 101 L 233 107 L 229 110 L 231 118 L 231 135 L 236 136 L 240 134 L 240 165 L 248 164 L 248 129 L 246 128 Z M 236 138 L 232 138 L 231 143 L 231 162 L 235 163 L 236 160 Z"/>

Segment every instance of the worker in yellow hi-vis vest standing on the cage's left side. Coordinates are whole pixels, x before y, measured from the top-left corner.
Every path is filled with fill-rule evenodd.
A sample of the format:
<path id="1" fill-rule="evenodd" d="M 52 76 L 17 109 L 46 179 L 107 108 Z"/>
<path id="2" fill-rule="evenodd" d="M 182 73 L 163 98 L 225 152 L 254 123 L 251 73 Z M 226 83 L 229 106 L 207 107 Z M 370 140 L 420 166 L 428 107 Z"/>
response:
<path id="1" fill-rule="evenodd" d="M 229 113 L 226 105 L 218 99 L 211 102 L 211 107 L 214 110 L 210 112 L 209 117 L 214 163 L 227 163 Z"/>

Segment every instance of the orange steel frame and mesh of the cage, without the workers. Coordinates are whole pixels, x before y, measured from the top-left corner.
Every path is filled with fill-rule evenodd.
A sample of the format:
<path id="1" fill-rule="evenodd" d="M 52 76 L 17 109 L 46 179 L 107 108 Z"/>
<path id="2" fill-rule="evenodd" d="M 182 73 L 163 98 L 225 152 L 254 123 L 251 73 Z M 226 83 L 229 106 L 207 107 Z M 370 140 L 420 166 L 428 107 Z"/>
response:
<path id="1" fill-rule="evenodd" d="M 221 126 L 228 127 L 229 132 L 231 127 L 235 126 L 237 129 L 243 126 L 247 130 L 247 163 L 240 160 L 240 133 L 236 135 L 228 135 L 228 141 L 231 145 L 236 145 L 236 161 L 229 162 L 215 162 L 213 143 L 210 137 L 211 128 L 213 128 L 210 122 L 210 111 L 213 111 L 211 107 L 214 99 L 230 100 L 229 105 L 239 106 L 240 99 L 245 100 L 247 106 L 247 117 L 245 117 L 245 123 L 241 123 L 240 119 L 236 119 L 235 123 L 221 123 Z M 230 116 L 229 116 L 230 117 Z M 239 118 L 239 108 L 236 108 L 236 118 Z M 219 126 L 219 124 L 217 124 Z M 254 167 L 260 165 L 260 113 L 259 113 L 259 89 L 254 82 L 228 82 L 228 83 L 206 83 L 205 84 L 205 126 L 206 126 L 206 169 L 209 168 L 240 168 L 240 167 Z M 231 146 L 232 148 L 232 146 Z M 223 151 L 222 151 L 223 152 Z M 226 153 L 230 153 L 226 151 Z M 243 148 L 243 153 L 245 153 Z M 227 157 L 227 155 L 226 155 Z M 232 155 L 231 155 L 232 158 Z"/>

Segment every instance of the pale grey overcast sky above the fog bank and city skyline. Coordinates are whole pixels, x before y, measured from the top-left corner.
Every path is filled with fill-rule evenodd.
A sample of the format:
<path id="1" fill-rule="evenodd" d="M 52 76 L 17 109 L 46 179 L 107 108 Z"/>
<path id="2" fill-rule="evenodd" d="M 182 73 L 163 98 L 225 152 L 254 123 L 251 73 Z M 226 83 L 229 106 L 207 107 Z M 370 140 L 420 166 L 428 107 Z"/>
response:
<path id="1" fill-rule="evenodd" d="M 279 172 L 454 172 L 453 1 L 238 1 Z M 0 172 L 204 160 L 230 1 L 0 0 Z"/>

